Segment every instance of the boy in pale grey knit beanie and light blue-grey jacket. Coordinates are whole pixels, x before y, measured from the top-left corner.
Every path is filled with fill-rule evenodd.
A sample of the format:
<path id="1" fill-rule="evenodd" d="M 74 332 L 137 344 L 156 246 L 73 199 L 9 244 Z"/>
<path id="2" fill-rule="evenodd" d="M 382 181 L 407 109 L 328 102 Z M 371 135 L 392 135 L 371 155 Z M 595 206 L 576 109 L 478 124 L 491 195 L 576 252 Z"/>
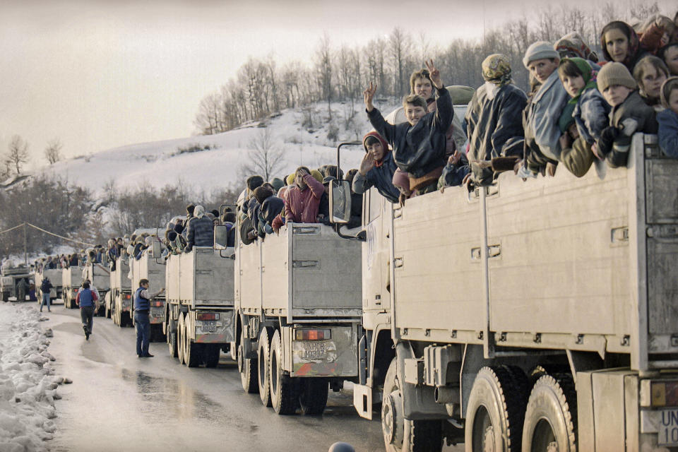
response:
<path id="1" fill-rule="evenodd" d="M 560 55 L 553 44 L 537 41 L 528 47 L 523 58 L 530 76 L 541 83 L 528 103 L 525 120 L 525 162 L 532 174 L 548 172 L 553 176 L 560 160 L 558 120 L 568 96 L 558 78 Z M 521 172 L 519 175 L 527 175 Z"/>

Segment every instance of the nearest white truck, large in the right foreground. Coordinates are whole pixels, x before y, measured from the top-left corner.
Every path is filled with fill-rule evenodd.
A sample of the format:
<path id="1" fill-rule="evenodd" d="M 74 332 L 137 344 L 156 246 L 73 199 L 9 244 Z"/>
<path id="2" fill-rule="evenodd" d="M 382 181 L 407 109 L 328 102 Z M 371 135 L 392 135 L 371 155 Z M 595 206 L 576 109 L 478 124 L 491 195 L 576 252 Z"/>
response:
<path id="1" fill-rule="evenodd" d="M 637 133 L 628 166 L 364 196 L 354 405 L 388 451 L 677 450 L 678 161 Z"/>

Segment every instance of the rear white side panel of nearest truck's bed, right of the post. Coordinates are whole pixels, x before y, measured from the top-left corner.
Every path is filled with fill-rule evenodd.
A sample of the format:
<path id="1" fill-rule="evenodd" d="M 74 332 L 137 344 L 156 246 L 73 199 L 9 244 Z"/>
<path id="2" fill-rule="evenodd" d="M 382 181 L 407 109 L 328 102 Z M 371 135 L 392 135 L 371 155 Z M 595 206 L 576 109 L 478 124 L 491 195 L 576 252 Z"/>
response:
<path id="1" fill-rule="evenodd" d="M 626 173 L 499 177 L 487 198 L 492 331 L 631 333 Z"/>

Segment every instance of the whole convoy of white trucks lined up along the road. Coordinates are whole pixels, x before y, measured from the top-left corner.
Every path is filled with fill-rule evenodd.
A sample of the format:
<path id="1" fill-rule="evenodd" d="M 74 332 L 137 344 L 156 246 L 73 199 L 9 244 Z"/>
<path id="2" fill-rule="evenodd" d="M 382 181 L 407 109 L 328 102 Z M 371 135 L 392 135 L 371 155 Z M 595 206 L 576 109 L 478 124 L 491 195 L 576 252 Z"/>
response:
<path id="1" fill-rule="evenodd" d="M 352 381 L 388 451 L 678 446 L 678 161 L 656 136 L 579 179 L 501 174 L 403 205 L 373 188 L 356 234 L 347 184 L 331 182 L 333 226 L 234 248 L 217 226 L 214 248 L 145 251 L 133 285 L 119 258 L 106 311 L 122 325 L 138 278 L 164 285 L 151 309 L 172 356 L 230 352 L 281 415 L 319 414 Z M 79 275 L 64 269 L 67 307 Z"/>

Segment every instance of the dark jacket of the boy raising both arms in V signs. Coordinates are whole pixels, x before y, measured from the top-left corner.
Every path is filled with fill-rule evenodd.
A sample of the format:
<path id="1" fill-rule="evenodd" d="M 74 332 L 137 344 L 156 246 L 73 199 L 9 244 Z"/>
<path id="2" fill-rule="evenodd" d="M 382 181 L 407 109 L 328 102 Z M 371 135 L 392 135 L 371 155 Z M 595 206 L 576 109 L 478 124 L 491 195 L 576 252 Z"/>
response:
<path id="1" fill-rule="evenodd" d="M 372 127 L 391 144 L 398 168 L 414 178 L 424 177 L 445 166 L 446 133 L 452 124 L 454 110 L 449 91 L 445 88 L 437 91 L 438 109 L 424 115 L 415 126 L 408 122 L 395 126 L 388 124 L 376 108 L 367 113 Z"/>

